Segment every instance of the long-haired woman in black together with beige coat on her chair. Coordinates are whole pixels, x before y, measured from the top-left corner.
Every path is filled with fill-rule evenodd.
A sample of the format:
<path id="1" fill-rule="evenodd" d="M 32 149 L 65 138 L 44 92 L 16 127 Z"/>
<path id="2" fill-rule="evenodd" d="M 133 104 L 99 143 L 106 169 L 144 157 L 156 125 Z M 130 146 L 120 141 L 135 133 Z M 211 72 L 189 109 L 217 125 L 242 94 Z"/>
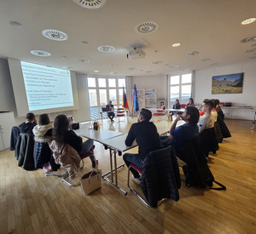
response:
<path id="1" fill-rule="evenodd" d="M 69 130 L 68 118 L 65 115 L 55 117 L 53 140 L 49 143 L 50 149 L 54 152 L 55 163 L 61 163 L 67 168 L 69 178 L 75 177 L 75 172 L 79 171 L 80 157 L 92 151 L 93 140 L 82 141 L 82 138 Z M 90 156 L 92 167 L 96 167 L 94 156 Z"/>

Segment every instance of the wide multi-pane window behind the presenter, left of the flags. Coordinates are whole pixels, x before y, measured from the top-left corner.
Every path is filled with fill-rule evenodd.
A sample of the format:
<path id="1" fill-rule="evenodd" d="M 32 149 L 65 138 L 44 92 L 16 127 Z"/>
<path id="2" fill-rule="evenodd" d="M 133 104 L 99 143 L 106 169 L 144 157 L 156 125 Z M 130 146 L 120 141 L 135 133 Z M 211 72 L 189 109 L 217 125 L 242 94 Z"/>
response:
<path id="1" fill-rule="evenodd" d="M 100 118 L 102 107 L 112 101 L 115 110 L 122 106 L 125 77 L 87 77 L 89 88 L 90 118 Z M 103 113 L 103 117 L 107 117 Z"/>

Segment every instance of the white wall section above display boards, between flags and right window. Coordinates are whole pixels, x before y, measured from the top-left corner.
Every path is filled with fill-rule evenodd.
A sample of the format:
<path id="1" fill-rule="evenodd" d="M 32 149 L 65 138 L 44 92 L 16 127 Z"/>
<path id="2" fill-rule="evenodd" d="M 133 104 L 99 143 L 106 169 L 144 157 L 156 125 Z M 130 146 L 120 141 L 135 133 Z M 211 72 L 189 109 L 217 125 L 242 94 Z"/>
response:
<path id="1" fill-rule="evenodd" d="M 132 87 L 136 83 L 137 89 L 156 88 L 157 99 L 166 100 L 166 76 L 132 77 Z"/>

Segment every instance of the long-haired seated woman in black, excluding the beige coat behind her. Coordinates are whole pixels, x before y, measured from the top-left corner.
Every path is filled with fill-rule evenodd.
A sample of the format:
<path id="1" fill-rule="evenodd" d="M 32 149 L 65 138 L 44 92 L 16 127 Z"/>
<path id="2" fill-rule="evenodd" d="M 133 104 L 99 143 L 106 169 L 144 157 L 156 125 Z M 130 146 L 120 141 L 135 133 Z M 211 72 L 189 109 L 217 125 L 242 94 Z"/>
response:
<path id="1" fill-rule="evenodd" d="M 79 153 L 79 156 L 86 154 L 88 151 L 93 151 L 93 140 L 89 139 L 83 142 L 82 138 L 75 134 L 73 130 L 69 130 L 69 121 L 65 115 L 55 117 L 53 140 L 60 148 L 64 144 L 69 144 Z M 95 168 L 96 159 L 94 155 L 90 156 L 90 161 L 92 167 Z"/>

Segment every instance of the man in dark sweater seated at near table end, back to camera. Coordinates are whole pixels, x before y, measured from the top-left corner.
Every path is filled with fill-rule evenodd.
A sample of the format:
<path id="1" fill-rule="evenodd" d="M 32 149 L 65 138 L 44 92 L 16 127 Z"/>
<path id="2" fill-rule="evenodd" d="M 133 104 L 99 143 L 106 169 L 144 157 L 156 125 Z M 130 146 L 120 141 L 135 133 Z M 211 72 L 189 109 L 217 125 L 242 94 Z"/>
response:
<path id="1" fill-rule="evenodd" d="M 137 119 L 138 123 L 133 123 L 125 140 L 126 146 L 131 146 L 134 140 L 137 141 L 138 154 L 125 153 L 123 158 L 126 166 L 129 168 L 130 163 L 138 168 L 143 168 L 143 160 L 150 151 L 160 149 L 160 138 L 153 122 L 149 122 L 152 112 L 142 109 Z M 140 175 L 137 170 L 131 168 L 131 180 L 140 184 Z"/>

